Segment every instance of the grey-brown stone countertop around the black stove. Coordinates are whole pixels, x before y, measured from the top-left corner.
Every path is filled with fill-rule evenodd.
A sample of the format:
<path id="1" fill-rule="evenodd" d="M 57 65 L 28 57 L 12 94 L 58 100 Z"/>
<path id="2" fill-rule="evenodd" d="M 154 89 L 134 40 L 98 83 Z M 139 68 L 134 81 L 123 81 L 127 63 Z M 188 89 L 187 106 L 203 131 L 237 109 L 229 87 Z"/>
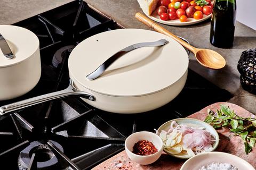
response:
<path id="1" fill-rule="evenodd" d="M 0 24 L 13 24 L 71 1 L 74 0 L 2 0 L 0 1 Z M 150 28 L 134 17 L 135 13 L 142 12 L 137 0 L 84 1 L 124 28 L 150 30 Z M 255 30 L 237 22 L 234 46 L 229 49 L 221 49 L 210 44 L 210 19 L 195 25 L 183 27 L 161 25 L 175 35 L 186 38 L 191 45 L 198 48 L 213 49 L 225 57 L 227 62 L 225 68 L 221 70 L 210 70 L 198 64 L 195 57 L 191 55 L 189 68 L 216 84 L 218 87 L 231 92 L 234 97 L 229 100 L 230 103 L 234 103 L 244 107 L 252 113 L 256 113 L 256 107 L 254 107 L 256 96 L 242 89 L 239 80 L 239 72 L 237 71 L 237 62 L 243 50 L 256 48 Z"/>

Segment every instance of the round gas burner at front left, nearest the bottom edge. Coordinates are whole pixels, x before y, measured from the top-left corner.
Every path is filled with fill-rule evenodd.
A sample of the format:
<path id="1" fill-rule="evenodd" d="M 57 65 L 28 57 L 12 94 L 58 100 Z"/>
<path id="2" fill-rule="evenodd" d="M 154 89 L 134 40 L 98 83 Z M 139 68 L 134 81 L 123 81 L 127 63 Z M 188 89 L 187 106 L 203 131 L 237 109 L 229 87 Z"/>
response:
<path id="1" fill-rule="evenodd" d="M 63 152 L 62 146 L 54 141 L 51 141 L 54 146 Z M 47 146 L 46 141 L 34 141 L 20 152 L 18 165 L 20 170 L 27 170 L 31 164 L 31 157 L 34 154 L 34 162 L 36 162 L 37 169 L 46 170 L 53 169 L 57 165 L 58 159 L 55 157 L 51 149 Z M 32 160 L 33 161 L 33 160 Z"/>

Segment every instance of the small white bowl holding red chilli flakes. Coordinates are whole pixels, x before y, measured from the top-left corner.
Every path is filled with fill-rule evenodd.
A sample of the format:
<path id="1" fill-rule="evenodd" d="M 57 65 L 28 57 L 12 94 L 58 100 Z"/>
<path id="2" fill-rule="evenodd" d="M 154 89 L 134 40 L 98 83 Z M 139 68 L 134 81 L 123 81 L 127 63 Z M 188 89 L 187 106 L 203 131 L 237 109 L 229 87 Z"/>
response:
<path id="1" fill-rule="evenodd" d="M 153 143 L 153 145 L 157 148 L 157 152 L 152 155 L 137 155 L 133 154 L 133 146 L 135 143 L 141 140 L 147 140 Z M 154 163 L 162 154 L 163 151 L 163 141 L 162 139 L 155 133 L 152 132 L 136 132 L 131 134 L 124 143 L 125 151 L 127 156 L 133 160 L 134 162 L 140 165 L 148 165 Z"/>

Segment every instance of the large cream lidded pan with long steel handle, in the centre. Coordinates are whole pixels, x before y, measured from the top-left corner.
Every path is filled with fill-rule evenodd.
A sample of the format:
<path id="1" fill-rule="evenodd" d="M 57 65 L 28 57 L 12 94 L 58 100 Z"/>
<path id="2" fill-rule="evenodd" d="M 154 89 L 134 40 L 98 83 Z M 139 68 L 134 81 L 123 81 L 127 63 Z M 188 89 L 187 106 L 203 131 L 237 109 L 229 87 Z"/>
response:
<path id="1" fill-rule="evenodd" d="M 119 50 L 159 39 L 166 39 L 169 43 L 132 50 L 108 67 L 99 78 L 86 78 Z M 69 56 L 68 68 L 71 84 L 69 90 L 61 91 L 63 95 L 55 92 L 39 97 L 41 99 L 20 101 L 19 104 L 0 107 L 0 112 L 4 114 L 69 95 L 83 95 L 86 103 L 107 112 L 150 111 L 169 103 L 180 93 L 187 79 L 188 55 L 179 43 L 161 33 L 119 29 L 99 33 L 78 44 Z"/>

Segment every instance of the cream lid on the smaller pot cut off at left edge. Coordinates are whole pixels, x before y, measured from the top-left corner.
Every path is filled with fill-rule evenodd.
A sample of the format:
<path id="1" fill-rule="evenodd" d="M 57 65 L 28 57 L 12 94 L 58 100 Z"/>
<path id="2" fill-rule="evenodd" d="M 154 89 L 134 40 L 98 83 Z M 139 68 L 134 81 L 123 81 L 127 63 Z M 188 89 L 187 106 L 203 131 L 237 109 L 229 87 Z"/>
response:
<path id="1" fill-rule="evenodd" d="M 28 29 L 14 25 L 0 25 L 0 33 L 14 54 L 12 59 L 7 59 L 0 46 L 0 67 L 18 64 L 33 55 L 39 48 L 37 36 Z"/>

